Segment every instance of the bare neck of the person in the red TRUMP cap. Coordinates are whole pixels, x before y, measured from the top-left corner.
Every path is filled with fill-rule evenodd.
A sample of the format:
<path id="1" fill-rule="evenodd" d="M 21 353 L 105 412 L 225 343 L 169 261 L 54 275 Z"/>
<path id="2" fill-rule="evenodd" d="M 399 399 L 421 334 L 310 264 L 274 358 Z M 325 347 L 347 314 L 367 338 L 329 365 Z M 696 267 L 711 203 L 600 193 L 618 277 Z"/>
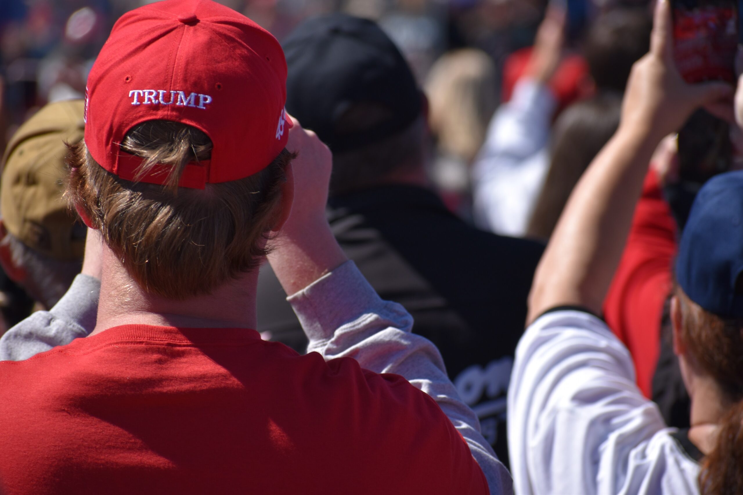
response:
<path id="1" fill-rule="evenodd" d="M 98 318 L 91 335 L 127 324 L 255 329 L 257 283 L 256 269 L 209 295 L 182 301 L 166 299 L 144 292 L 114 253 L 104 247 Z"/>

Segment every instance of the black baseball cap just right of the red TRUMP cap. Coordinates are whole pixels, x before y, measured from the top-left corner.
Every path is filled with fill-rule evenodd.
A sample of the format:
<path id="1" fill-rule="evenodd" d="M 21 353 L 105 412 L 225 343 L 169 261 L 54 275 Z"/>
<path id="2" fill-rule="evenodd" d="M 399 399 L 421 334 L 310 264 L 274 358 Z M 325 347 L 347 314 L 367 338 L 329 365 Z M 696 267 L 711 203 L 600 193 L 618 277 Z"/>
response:
<path id="1" fill-rule="evenodd" d="M 286 109 L 332 151 L 371 145 L 421 115 L 421 91 L 408 63 L 369 19 L 317 16 L 299 24 L 282 47 Z"/>

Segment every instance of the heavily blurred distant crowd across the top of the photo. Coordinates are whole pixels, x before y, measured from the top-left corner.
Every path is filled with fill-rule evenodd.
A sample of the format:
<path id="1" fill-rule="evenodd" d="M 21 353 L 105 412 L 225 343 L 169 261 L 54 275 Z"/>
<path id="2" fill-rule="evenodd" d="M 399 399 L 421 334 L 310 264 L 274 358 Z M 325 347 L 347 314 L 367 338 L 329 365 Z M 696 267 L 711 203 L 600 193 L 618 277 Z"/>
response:
<path id="1" fill-rule="evenodd" d="M 147 3 L 6 2 L 0 11 L 0 148 L 39 108 L 85 96 L 88 73 L 114 22 Z M 373 19 L 403 53 L 428 98 L 426 173 L 447 207 L 483 229 L 540 239 L 548 238 L 557 221 L 554 204 L 564 203 L 613 132 L 618 117 L 599 116 L 618 115 L 617 95 L 632 63 L 647 49 L 650 25 L 647 0 L 583 2 L 585 11 L 576 19 L 557 20 L 565 37 L 558 39 L 555 29 L 562 28 L 547 19 L 541 43 L 537 33 L 550 7 L 545 0 L 221 3 L 279 42 L 303 20 L 325 13 Z M 536 81 L 536 91 L 514 92 L 520 80 L 526 81 L 522 87 Z M 494 117 L 496 108 L 511 99 Z M 583 130 L 595 138 L 585 151 L 575 150 L 567 143 L 585 135 Z M 519 138 L 526 135 L 526 141 Z M 551 154 L 555 165 L 548 177 Z M 538 200 L 542 185 L 556 181 L 562 186 L 545 187 Z M 13 324 L 32 301 L 5 283 L 1 306 Z"/>

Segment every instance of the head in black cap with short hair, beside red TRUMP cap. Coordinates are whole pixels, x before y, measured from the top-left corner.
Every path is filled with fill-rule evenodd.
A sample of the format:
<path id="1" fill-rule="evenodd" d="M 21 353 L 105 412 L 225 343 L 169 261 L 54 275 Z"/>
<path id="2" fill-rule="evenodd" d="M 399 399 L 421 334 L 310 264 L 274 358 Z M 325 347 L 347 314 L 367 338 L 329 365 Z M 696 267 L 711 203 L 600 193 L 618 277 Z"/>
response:
<path id="1" fill-rule="evenodd" d="M 319 16 L 300 24 L 283 47 L 287 109 L 333 151 L 331 194 L 377 185 L 422 163 L 422 94 L 377 24 Z"/>

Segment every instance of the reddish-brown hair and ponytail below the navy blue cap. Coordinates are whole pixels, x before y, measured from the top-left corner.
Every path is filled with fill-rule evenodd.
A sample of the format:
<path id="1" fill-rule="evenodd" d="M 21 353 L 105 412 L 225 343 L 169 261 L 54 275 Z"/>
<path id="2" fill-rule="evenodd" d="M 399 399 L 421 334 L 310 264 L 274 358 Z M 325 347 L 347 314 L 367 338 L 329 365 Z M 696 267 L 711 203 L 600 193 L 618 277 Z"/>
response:
<path id="1" fill-rule="evenodd" d="M 699 473 L 701 494 L 743 493 L 743 318 L 721 318 L 677 286 L 681 338 L 694 364 L 716 381 L 729 404 L 715 449 Z"/>

